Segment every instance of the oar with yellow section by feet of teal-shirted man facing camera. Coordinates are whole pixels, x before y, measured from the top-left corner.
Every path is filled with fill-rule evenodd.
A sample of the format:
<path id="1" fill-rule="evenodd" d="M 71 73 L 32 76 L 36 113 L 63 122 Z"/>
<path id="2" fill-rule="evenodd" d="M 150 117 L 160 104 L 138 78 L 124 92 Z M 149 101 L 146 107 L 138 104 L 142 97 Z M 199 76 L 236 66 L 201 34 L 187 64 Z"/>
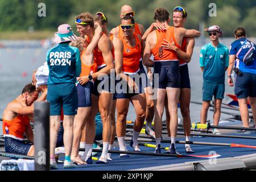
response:
<path id="1" fill-rule="evenodd" d="M 178 124 L 178 126 L 183 127 L 182 124 Z M 256 131 L 255 127 L 238 127 L 238 126 L 213 126 L 210 123 L 201 124 L 201 123 L 192 123 L 191 127 L 193 129 L 229 129 L 229 130 L 253 130 Z"/>

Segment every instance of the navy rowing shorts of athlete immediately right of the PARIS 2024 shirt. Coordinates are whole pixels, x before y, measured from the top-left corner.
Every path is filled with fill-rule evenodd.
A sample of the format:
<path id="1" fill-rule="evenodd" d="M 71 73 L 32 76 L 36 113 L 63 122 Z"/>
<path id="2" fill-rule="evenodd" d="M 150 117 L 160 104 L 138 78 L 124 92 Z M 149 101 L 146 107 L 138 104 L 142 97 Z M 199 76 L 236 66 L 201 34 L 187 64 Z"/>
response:
<path id="1" fill-rule="evenodd" d="M 77 84 L 78 107 L 91 107 L 92 106 L 92 81 L 88 81 L 84 85 Z"/>

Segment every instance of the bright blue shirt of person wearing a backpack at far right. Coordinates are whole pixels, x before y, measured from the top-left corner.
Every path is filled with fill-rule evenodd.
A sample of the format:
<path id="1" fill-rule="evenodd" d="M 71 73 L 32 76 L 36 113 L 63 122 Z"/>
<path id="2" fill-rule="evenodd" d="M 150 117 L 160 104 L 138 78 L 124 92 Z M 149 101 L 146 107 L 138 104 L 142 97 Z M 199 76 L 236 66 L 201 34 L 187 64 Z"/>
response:
<path id="1" fill-rule="evenodd" d="M 240 38 L 240 39 L 234 41 L 230 46 L 229 55 L 236 55 L 237 52 L 239 51 L 239 49 L 241 48 L 241 46 L 243 45 L 243 43 L 245 42 L 245 39 L 246 38 Z M 253 63 L 251 65 L 245 65 L 245 63 L 243 63 L 243 61 L 236 59 L 235 66 L 236 66 L 236 68 L 239 68 L 241 72 L 256 74 L 256 52 L 255 52 L 254 43 L 247 41 L 243 45 L 243 49 L 251 48 L 251 46 L 253 46 L 253 48 L 254 48 L 254 56 L 255 56 L 255 60 L 253 61 Z M 239 53 L 239 57 L 245 56 L 246 51 L 243 51 L 243 49 Z"/>

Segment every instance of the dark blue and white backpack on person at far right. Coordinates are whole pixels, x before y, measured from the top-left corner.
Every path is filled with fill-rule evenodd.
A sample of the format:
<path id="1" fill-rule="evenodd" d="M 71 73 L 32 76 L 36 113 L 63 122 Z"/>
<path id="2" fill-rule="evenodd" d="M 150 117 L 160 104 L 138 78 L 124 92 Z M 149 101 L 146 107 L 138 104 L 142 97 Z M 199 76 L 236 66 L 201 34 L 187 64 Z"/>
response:
<path id="1" fill-rule="evenodd" d="M 250 44 L 246 44 L 246 42 L 249 42 Z M 241 51 L 245 51 L 244 56 L 239 56 Z M 255 47 L 254 43 L 250 42 L 250 40 L 245 39 L 245 42 L 243 42 L 241 48 L 237 52 L 237 59 L 243 61 L 245 65 L 251 65 L 255 59 Z"/>

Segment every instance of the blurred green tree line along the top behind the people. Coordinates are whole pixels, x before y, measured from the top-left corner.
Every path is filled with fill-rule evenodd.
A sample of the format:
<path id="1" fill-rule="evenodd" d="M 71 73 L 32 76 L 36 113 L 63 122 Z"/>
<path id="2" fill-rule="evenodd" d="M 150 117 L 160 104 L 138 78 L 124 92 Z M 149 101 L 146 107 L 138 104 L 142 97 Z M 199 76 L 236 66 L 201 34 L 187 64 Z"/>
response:
<path id="1" fill-rule="evenodd" d="M 46 16 L 40 17 L 39 3 L 46 5 Z M 210 16 L 210 3 L 216 4 L 216 16 Z M 120 23 L 122 5 L 130 5 L 135 11 L 135 21 L 145 28 L 154 22 L 154 10 L 165 7 L 170 13 L 175 6 L 183 6 L 188 13 L 185 28 L 199 29 L 217 24 L 224 36 L 233 36 L 237 27 L 245 27 L 248 36 L 256 36 L 256 1 L 248 0 L 0 0 L 0 31 L 34 30 L 56 31 L 61 23 L 69 23 L 75 28 L 75 16 L 89 11 L 102 11 L 109 19 L 109 29 Z"/>

